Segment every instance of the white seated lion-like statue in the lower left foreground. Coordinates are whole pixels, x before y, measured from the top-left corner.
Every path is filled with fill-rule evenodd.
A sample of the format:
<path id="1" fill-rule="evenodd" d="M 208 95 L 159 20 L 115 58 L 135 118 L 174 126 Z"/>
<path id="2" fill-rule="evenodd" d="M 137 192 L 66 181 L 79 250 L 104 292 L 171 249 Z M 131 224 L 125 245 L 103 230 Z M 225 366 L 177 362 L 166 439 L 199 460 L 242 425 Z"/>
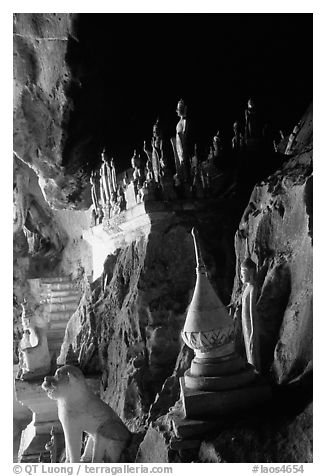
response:
<path id="1" fill-rule="evenodd" d="M 42 388 L 58 403 L 66 462 L 101 463 L 104 459 L 119 462 L 131 433 L 112 408 L 87 387 L 80 369 L 72 365 L 59 368 L 54 377 L 45 377 Z M 88 433 L 89 438 L 81 457 L 83 432 Z"/>

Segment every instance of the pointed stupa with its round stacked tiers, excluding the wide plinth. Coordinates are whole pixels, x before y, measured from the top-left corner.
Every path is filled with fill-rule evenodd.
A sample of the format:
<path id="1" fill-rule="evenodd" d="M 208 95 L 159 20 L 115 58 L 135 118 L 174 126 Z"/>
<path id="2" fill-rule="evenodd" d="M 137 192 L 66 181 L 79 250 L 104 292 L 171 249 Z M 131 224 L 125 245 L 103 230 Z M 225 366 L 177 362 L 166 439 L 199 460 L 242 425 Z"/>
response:
<path id="1" fill-rule="evenodd" d="M 235 348 L 234 321 L 208 278 L 198 233 L 192 230 L 196 254 L 196 286 L 181 333 L 195 351 L 184 374 L 185 385 L 194 390 L 225 390 L 252 382 L 255 371 Z"/>

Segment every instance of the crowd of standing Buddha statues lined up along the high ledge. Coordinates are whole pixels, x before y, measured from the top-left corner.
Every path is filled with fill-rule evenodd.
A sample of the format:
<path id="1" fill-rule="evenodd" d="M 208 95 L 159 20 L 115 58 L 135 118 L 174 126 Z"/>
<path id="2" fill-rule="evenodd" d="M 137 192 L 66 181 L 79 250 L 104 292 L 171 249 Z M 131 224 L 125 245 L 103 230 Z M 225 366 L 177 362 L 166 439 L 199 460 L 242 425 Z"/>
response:
<path id="1" fill-rule="evenodd" d="M 148 146 L 144 141 L 142 153 L 147 160 L 134 150 L 131 175 L 125 171 L 123 177 L 117 180 L 114 159 L 109 160 L 107 151 L 103 149 L 99 177 L 96 171 L 92 171 L 90 177 L 93 225 L 102 223 L 104 215 L 112 218 L 145 201 L 202 199 L 216 195 L 225 178 L 223 167 L 221 168 L 225 151 L 220 131 L 214 135 L 206 159 L 200 160 L 197 144 L 192 152 L 189 146 L 187 111 L 187 105 L 181 99 L 176 109 L 179 117 L 176 134 L 170 139 L 174 155 L 174 174 L 163 149 L 159 119 L 153 126 L 151 145 Z M 297 125 L 288 140 L 285 149 L 287 155 L 291 153 L 298 130 Z M 284 134 L 280 130 L 277 139 L 271 140 L 268 126 L 262 127 L 255 103 L 249 99 L 244 113 L 244 126 L 240 121 L 233 124 L 231 150 L 234 154 L 257 150 L 264 140 L 265 143 L 266 140 L 269 141 L 269 146 L 277 152 L 278 143 L 284 140 Z"/>

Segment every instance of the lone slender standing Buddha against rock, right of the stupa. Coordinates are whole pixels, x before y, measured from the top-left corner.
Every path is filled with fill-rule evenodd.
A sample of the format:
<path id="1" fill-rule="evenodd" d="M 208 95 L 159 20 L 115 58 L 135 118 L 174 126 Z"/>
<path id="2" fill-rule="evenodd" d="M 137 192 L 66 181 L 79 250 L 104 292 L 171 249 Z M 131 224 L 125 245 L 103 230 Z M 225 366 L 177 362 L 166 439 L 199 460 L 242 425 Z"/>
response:
<path id="1" fill-rule="evenodd" d="M 241 281 L 245 285 L 242 294 L 242 332 L 248 362 L 260 371 L 259 323 L 256 309 L 257 285 L 256 265 L 248 257 L 241 263 Z"/>

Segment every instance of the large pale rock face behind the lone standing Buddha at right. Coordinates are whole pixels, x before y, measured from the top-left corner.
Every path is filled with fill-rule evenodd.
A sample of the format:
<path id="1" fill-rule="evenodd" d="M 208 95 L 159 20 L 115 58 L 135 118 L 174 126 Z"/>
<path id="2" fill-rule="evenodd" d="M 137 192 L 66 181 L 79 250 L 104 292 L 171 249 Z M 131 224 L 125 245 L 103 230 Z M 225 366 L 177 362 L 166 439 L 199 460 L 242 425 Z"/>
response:
<path id="1" fill-rule="evenodd" d="M 248 240 L 248 245 L 246 245 Z M 312 362 L 312 110 L 302 119 L 293 157 L 254 188 L 235 237 L 233 300 L 248 249 L 258 265 L 262 365 L 278 383 Z"/>

